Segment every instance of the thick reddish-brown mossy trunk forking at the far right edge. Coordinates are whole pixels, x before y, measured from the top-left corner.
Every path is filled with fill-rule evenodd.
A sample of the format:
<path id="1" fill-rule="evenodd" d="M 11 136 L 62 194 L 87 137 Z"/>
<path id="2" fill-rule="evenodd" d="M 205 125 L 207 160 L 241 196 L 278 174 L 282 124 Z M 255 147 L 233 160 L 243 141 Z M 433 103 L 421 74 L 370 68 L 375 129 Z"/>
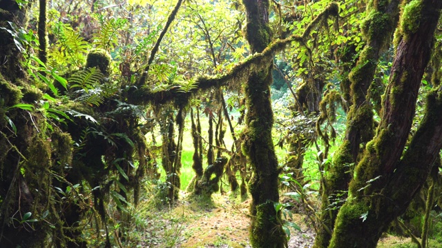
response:
<path id="1" fill-rule="evenodd" d="M 329 247 L 376 247 L 419 192 L 442 146 L 442 94 L 427 97 L 426 114 L 404 152 L 442 1 L 411 1 L 396 32 L 396 55 L 381 122 L 367 144 L 340 208 Z"/>

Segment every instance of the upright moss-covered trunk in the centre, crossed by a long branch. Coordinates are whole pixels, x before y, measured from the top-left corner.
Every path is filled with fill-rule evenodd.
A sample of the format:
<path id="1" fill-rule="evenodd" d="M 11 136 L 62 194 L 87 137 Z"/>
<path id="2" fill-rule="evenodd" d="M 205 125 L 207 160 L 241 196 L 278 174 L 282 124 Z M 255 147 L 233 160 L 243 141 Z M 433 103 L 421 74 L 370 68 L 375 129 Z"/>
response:
<path id="1" fill-rule="evenodd" d="M 269 1 L 243 0 L 247 11 L 246 37 L 251 52 L 262 52 L 271 40 Z M 249 181 L 252 196 L 249 230 L 252 247 L 284 247 L 285 234 L 273 203 L 278 202 L 278 161 L 271 139 L 273 112 L 270 102 L 272 60 L 252 73 L 244 86 L 247 104 L 243 151 L 249 157 L 253 176 Z"/>

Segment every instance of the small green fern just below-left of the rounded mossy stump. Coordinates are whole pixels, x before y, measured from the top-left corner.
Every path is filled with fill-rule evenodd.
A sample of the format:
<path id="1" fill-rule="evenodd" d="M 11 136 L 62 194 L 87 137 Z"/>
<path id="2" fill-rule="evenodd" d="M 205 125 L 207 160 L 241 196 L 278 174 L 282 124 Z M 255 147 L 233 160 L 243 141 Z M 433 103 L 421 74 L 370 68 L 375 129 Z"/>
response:
<path id="1" fill-rule="evenodd" d="M 104 75 L 97 68 L 88 68 L 86 70 L 81 70 L 76 72 L 69 78 L 70 88 L 79 87 L 86 93 L 88 90 L 95 88 L 99 85 L 99 82 L 104 79 Z"/>

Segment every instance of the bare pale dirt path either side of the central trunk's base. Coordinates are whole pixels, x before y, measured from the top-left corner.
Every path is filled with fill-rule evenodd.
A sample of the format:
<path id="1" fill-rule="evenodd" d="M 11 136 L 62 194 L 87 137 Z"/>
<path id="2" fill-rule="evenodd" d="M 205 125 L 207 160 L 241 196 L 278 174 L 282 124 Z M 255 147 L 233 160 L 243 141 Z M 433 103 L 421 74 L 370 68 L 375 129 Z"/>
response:
<path id="1" fill-rule="evenodd" d="M 180 242 L 175 247 L 250 247 L 248 237 L 249 200 L 238 200 L 215 194 L 211 203 L 183 200 L 173 213 L 182 216 Z M 289 247 L 309 248 L 314 231 L 291 230 Z"/>

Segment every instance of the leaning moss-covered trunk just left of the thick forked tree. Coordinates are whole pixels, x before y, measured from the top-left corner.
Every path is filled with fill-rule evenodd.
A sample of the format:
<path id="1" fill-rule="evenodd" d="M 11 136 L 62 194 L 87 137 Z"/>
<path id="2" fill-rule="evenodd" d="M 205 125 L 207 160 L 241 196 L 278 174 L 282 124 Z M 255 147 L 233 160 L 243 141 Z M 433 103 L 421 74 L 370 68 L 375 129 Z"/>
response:
<path id="1" fill-rule="evenodd" d="M 332 229 L 338 209 L 347 197 L 352 179 L 353 164 L 356 163 L 361 143 L 367 143 L 373 134 L 374 121 L 370 101 L 367 101 L 379 56 L 388 48 L 397 23 L 397 0 L 370 1 L 363 34 L 367 41 L 356 66 L 349 74 L 351 108 L 347 114 L 347 130 L 338 153 L 334 157 L 325 185 L 323 185 L 321 223 L 314 247 L 327 247 L 332 238 Z M 332 205 L 331 205 L 332 204 Z"/>

